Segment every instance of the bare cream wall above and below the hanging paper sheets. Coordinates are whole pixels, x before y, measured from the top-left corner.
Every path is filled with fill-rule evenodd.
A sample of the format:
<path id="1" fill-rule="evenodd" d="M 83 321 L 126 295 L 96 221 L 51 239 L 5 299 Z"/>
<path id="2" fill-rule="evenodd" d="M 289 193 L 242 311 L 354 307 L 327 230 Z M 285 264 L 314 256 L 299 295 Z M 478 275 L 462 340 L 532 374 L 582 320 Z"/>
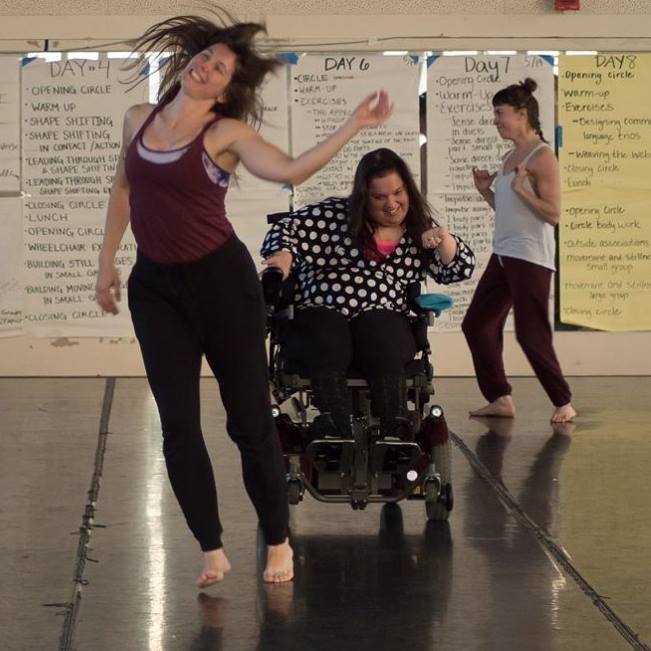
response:
<path id="1" fill-rule="evenodd" d="M 651 50 L 646 0 L 584 0 L 578 13 L 553 11 L 553 0 L 247 0 L 222 4 L 240 18 L 263 18 L 269 47 L 284 49 L 545 49 Z M 245 10 L 242 8 L 245 7 Z M 142 15 L 143 9 L 147 15 Z M 162 15 L 189 12 L 177 2 L 135 0 L 4 0 L 0 51 L 88 46 L 127 49 Z M 337 42 L 337 45 L 329 45 Z M 353 42 L 354 41 L 354 42 Z M 341 43 L 345 42 L 346 45 Z M 651 332 L 558 332 L 567 375 L 651 374 Z M 470 375 L 460 333 L 432 334 L 439 375 Z M 511 374 L 531 371 L 512 335 L 506 337 Z M 436 354 L 436 351 L 440 351 Z M 139 375 L 137 344 L 111 339 L 0 339 L 0 375 Z"/>

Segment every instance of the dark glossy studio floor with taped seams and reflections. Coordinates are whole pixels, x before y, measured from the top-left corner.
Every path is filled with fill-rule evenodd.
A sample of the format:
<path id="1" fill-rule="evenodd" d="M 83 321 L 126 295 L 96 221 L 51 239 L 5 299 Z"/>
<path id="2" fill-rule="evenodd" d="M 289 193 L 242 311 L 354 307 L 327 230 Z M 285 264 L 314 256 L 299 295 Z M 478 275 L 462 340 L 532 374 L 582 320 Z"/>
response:
<path id="1" fill-rule="evenodd" d="M 533 379 L 513 382 L 513 421 L 468 419 L 481 404 L 474 381 L 439 379 L 436 401 L 458 436 L 449 523 L 427 525 L 419 502 L 354 512 L 307 497 L 292 507 L 296 579 L 281 586 L 259 580 L 253 509 L 217 389 L 203 380 L 234 566 L 205 592 L 146 383 L 116 381 L 101 435 L 106 384 L 0 380 L 3 650 L 651 643 L 651 378 L 572 378 L 580 416 L 556 432 Z"/>

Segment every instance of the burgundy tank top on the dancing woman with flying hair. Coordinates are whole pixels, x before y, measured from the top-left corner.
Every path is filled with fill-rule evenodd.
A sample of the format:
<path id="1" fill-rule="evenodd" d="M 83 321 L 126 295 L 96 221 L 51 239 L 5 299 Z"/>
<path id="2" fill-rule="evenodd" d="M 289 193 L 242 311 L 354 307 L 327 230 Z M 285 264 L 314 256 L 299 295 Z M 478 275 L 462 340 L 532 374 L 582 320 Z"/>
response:
<path id="1" fill-rule="evenodd" d="M 229 174 L 203 146 L 211 120 L 188 145 L 148 149 L 142 134 L 160 110 L 147 117 L 127 149 L 131 229 L 138 248 L 155 262 L 188 262 L 214 251 L 233 233 L 224 199 Z"/>

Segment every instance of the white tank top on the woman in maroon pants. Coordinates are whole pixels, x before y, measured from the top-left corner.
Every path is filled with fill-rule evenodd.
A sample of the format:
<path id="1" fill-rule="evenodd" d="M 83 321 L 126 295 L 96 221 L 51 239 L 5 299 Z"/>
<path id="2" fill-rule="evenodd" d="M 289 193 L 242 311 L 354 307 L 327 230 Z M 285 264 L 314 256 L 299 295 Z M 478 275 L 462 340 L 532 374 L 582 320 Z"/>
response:
<path id="1" fill-rule="evenodd" d="M 534 147 L 521 165 L 541 148 L 548 145 L 541 142 Z M 544 222 L 529 209 L 511 188 L 513 174 L 504 174 L 504 166 L 495 178 L 495 234 L 493 253 L 509 258 L 518 258 L 534 264 L 556 270 L 554 263 L 556 241 L 554 227 Z M 529 181 L 529 190 L 533 192 Z"/>

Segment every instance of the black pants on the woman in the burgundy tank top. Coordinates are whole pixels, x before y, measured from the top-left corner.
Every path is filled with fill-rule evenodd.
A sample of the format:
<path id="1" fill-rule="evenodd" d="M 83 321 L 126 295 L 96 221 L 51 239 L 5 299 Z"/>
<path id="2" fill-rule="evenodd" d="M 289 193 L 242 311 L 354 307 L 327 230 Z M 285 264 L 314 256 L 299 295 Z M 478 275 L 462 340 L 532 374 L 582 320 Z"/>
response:
<path id="1" fill-rule="evenodd" d="M 203 355 L 219 383 L 226 429 L 240 450 L 244 484 L 267 544 L 283 542 L 285 470 L 271 416 L 262 291 L 246 247 L 233 235 L 206 257 L 176 264 L 152 262 L 139 252 L 128 289 L 167 472 L 201 549 L 222 546 L 199 414 Z"/>

